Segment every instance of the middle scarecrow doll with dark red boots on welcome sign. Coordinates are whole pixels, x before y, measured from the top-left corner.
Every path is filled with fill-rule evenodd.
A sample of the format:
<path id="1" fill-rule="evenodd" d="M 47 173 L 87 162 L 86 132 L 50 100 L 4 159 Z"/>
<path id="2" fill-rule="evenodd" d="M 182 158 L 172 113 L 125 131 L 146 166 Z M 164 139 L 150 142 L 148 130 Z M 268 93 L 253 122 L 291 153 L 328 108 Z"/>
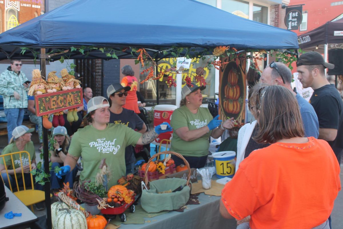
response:
<path id="1" fill-rule="evenodd" d="M 50 88 L 47 90 L 49 93 L 67 90 L 64 81 L 56 76 L 56 71 L 49 72 L 46 82 Z M 64 126 L 63 111 L 55 112 L 54 117 L 52 117 L 52 126 L 57 127 L 58 125 Z"/>

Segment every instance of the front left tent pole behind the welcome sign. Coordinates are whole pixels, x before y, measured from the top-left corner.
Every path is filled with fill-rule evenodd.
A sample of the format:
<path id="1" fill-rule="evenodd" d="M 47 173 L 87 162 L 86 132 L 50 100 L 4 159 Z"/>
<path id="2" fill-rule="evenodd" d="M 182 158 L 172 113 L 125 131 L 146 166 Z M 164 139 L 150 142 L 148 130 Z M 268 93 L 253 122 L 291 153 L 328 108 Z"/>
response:
<path id="1" fill-rule="evenodd" d="M 46 79 L 46 59 L 45 59 L 45 48 L 40 49 L 40 70 L 42 76 Z M 42 117 L 43 122 L 43 117 Z M 48 130 L 43 127 L 43 162 L 44 172 L 50 174 L 49 170 L 49 148 L 48 148 Z M 48 229 L 52 229 L 51 222 L 51 201 L 50 201 L 50 181 L 48 178 L 44 178 L 45 188 L 45 208 L 46 208 L 46 224 Z"/>

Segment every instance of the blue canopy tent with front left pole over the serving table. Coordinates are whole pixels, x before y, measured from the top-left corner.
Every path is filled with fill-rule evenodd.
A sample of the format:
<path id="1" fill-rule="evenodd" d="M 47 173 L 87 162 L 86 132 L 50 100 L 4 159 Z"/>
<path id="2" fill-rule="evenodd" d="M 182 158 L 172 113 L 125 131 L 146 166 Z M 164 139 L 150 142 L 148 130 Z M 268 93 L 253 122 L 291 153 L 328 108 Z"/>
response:
<path id="1" fill-rule="evenodd" d="M 45 61 L 70 59 L 111 59 L 99 50 L 87 56 L 71 46 L 142 47 L 154 58 L 173 56 L 170 47 L 193 47 L 204 51 L 216 46 L 237 49 L 297 49 L 294 32 L 240 18 L 194 0 L 74 0 L 0 34 L 0 60 L 34 59 L 39 54 L 42 75 Z M 51 53 L 58 49 L 56 53 Z M 132 58 L 128 49 L 118 58 Z M 43 128 L 44 160 L 48 158 L 47 130 Z M 45 163 L 49 173 L 49 164 Z M 50 189 L 46 185 L 47 227 L 51 228 Z"/>

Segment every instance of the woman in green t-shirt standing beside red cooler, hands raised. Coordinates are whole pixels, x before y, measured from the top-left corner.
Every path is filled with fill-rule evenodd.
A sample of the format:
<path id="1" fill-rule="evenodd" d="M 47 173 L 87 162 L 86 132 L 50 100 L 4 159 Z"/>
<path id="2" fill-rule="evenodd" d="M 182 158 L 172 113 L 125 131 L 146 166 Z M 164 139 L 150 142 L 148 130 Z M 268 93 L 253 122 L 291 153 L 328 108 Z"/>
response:
<path id="1" fill-rule="evenodd" d="M 234 126 L 233 118 L 222 123 L 218 115 L 213 118 L 209 109 L 202 105 L 201 91 L 206 87 L 192 87 L 185 85 L 182 88 L 180 107 L 171 116 L 170 125 L 173 127 L 171 151 L 178 152 L 188 161 L 191 168 L 202 168 L 207 161 L 209 152 L 209 137 L 220 137 L 225 129 Z M 183 160 L 171 156 L 176 165 L 183 164 Z"/>

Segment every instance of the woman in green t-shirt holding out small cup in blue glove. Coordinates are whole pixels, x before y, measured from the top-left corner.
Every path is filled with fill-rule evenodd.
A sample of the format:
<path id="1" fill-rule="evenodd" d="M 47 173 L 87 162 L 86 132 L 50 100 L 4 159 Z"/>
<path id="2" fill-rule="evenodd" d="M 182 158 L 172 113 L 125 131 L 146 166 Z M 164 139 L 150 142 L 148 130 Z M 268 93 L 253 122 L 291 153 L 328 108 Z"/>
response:
<path id="1" fill-rule="evenodd" d="M 122 96 L 123 93 L 117 94 Z M 165 130 L 158 125 L 153 130 L 141 134 L 126 125 L 109 123 L 109 103 L 102 96 L 90 99 L 87 111 L 86 118 L 92 125 L 79 129 L 73 135 L 64 166 L 56 174 L 59 178 L 74 169 L 79 157 L 82 156 L 83 170 L 80 173 L 80 181 L 90 179 L 95 182 L 95 177 L 106 165 L 110 171 L 107 186 L 111 187 L 126 174 L 125 147 L 149 144 L 159 134 L 172 130 L 169 124 Z"/>

